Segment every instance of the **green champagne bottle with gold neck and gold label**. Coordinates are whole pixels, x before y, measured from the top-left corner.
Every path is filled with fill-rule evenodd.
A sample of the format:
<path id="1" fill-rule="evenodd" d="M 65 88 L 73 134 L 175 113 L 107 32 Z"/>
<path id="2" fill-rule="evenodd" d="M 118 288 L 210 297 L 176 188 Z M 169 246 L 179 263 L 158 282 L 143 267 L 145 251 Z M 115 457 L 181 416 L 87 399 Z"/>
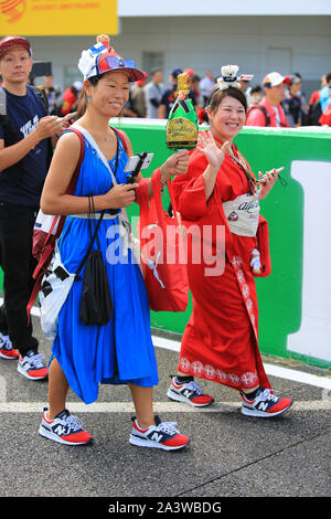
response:
<path id="1" fill-rule="evenodd" d="M 179 74 L 178 95 L 167 123 L 167 147 L 174 151 L 193 149 L 196 146 L 197 115 L 189 94 L 189 75 L 185 73 Z"/>

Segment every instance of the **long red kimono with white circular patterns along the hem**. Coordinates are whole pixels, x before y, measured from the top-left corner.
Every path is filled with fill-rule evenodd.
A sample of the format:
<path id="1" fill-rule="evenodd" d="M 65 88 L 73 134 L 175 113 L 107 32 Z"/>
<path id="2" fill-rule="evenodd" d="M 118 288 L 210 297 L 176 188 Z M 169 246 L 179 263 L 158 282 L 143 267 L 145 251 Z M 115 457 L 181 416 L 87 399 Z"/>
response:
<path id="1" fill-rule="evenodd" d="M 236 148 L 233 146 L 236 153 Z M 188 275 L 193 296 L 193 313 L 185 327 L 178 369 L 180 372 L 207 379 L 237 390 L 261 385 L 270 388 L 258 350 L 258 307 L 255 280 L 249 266 L 256 247 L 267 275 L 270 271 L 267 222 L 259 216 L 256 236 L 229 231 L 223 202 L 249 193 L 244 169 L 227 153 L 218 171 L 214 191 L 206 201 L 202 173 L 207 160 L 194 149 L 188 172 L 172 182 L 177 210 L 189 229 L 194 225 L 200 236 L 204 226 L 225 230 L 225 267 L 220 275 L 205 275 L 210 264 L 193 260 L 194 240 L 189 245 Z M 229 218 L 229 216 L 228 216 Z M 266 232 L 263 232 L 266 231 Z M 194 234 L 194 233 L 192 233 Z M 216 254 L 213 232 L 212 254 Z M 220 240 L 220 237 L 218 237 Z M 203 246 L 201 240 L 200 247 Z M 211 271 L 210 271 L 211 272 Z"/>

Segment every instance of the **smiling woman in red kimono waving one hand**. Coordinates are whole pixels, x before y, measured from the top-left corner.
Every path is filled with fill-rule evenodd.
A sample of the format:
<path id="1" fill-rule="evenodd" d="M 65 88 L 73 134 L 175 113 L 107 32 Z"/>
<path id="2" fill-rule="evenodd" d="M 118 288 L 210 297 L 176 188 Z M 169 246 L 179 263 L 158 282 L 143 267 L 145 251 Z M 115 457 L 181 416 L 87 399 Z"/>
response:
<path id="1" fill-rule="evenodd" d="M 200 133 L 188 172 L 172 182 L 177 210 L 192 236 L 188 240 L 188 275 L 193 313 L 168 396 L 194 406 L 213 403 L 194 382 L 195 375 L 238 390 L 244 414 L 275 416 L 292 401 L 274 394 L 264 370 L 254 275 L 270 272 L 267 222 L 259 215 L 259 200 L 268 194 L 278 173 L 274 169 L 256 182 L 232 142 L 245 123 L 246 110 L 246 98 L 238 88 L 216 87 L 205 110 L 211 130 Z M 209 254 L 207 243 L 212 245 Z"/>

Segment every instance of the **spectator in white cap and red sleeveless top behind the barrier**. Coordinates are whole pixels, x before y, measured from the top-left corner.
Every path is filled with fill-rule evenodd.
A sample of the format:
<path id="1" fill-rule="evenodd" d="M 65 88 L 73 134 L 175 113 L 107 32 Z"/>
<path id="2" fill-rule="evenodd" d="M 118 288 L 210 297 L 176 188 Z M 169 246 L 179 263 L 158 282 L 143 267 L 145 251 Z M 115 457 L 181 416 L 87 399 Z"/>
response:
<path id="1" fill-rule="evenodd" d="M 263 81 L 265 95 L 248 113 L 245 126 L 289 127 L 281 102 L 285 98 L 285 83 L 288 77 L 278 72 L 270 72 Z"/>

